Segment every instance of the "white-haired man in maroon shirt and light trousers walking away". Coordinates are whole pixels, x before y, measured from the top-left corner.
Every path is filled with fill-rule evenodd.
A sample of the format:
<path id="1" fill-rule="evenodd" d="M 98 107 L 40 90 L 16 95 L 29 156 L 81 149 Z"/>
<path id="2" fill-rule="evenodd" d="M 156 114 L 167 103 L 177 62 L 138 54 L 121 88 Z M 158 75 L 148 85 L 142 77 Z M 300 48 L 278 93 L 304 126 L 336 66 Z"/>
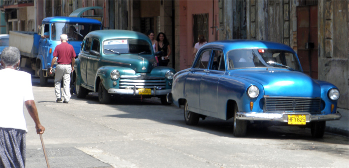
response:
<path id="1" fill-rule="evenodd" d="M 57 60 L 56 72 L 54 76 L 54 93 L 56 94 L 56 102 L 62 101 L 61 94 L 61 81 L 63 78 L 63 103 L 68 103 L 70 99 L 70 73 L 74 71 L 75 63 L 75 51 L 72 45 L 68 44 L 67 34 L 62 34 L 61 44 L 57 45 L 53 51 L 53 58 L 50 67 L 50 74 L 52 74 L 52 68 Z M 58 59 L 57 59 L 58 58 Z"/>

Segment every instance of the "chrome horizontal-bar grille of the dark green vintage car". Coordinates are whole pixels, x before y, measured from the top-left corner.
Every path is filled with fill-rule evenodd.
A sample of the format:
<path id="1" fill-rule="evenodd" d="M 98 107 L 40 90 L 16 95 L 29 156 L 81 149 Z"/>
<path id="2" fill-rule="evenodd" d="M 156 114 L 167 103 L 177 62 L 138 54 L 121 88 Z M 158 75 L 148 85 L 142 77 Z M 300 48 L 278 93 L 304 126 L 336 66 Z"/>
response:
<path id="1" fill-rule="evenodd" d="M 165 77 L 154 77 L 146 74 L 138 76 L 121 75 L 119 88 L 154 88 L 166 87 Z"/>

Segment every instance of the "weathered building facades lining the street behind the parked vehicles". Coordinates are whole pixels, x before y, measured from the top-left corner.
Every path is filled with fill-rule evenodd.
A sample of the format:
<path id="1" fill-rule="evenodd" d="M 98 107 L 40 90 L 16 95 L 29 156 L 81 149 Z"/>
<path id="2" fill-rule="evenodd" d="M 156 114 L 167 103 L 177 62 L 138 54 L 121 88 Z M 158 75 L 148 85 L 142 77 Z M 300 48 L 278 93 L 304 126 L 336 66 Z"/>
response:
<path id="1" fill-rule="evenodd" d="M 304 73 L 339 87 L 349 109 L 349 0 L 0 0 L 1 33 L 37 31 L 43 18 L 69 16 L 81 7 L 104 29 L 164 32 L 169 66 L 191 66 L 197 36 L 208 42 L 256 39 L 291 46 Z M 311 89 L 311 88 L 309 88 Z"/>

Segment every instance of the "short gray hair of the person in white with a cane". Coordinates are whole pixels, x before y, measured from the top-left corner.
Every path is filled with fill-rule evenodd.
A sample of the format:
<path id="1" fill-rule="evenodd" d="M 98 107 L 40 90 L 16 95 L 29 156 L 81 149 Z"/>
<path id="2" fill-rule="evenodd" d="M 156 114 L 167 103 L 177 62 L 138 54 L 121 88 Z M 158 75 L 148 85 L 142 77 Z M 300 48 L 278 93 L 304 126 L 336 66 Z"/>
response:
<path id="1" fill-rule="evenodd" d="M 5 64 L 2 66 L 7 66 L 7 65 L 14 66 L 19 62 L 19 60 L 20 60 L 20 52 L 18 48 L 9 46 L 2 50 L 1 61 Z"/>

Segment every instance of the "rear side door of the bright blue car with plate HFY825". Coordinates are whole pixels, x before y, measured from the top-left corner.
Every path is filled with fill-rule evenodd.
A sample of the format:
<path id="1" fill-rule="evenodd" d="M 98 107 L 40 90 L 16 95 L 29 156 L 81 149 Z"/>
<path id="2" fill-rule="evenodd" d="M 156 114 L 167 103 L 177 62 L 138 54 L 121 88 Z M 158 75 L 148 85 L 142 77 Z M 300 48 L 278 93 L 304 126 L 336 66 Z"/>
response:
<path id="1" fill-rule="evenodd" d="M 199 112 L 200 80 L 202 75 L 207 70 L 210 55 L 211 49 L 200 51 L 196 63 L 194 63 L 193 68 L 189 70 L 186 76 L 185 97 L 189 108 L 191 108 L 190 110 L 193 112 Z"/>

